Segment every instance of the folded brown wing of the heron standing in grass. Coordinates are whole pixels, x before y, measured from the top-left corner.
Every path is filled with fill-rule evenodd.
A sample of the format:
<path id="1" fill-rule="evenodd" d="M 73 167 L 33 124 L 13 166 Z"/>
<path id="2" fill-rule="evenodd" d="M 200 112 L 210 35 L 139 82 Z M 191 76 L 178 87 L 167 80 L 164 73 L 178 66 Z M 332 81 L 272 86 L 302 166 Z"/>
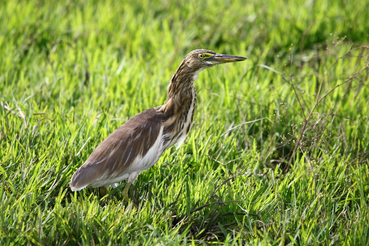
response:
<path id="1" fill-rule="evenodd" d="M 158 138 L 162 115 L 154 108 L 145 110 L 111 133 L 77 169 L 70 181 L 79 190 L 96 180 L 129 173 L 137 156 L 144 156 Z"/>

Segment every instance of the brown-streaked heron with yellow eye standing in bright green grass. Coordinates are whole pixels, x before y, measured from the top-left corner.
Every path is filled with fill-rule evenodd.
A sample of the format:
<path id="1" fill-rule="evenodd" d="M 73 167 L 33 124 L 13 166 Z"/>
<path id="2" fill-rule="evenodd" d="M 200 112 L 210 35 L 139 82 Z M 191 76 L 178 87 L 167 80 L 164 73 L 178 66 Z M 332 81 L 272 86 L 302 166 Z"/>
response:
<path id="1" fill-rule="evenodd" d="M 188 53 L 170 80 L 166 103 L 135 115 L 104 139 L 73 174 L 71 190 L 100 187 L 101 195 L 106 195 L 106 187 L 116 188 L 127 180 L 122 192 L 129 202 L 128 190 L 138 174 L 153 166 L 165 150 L 173 145 L 178 148 L 189 134 L 197 98 L 194 81 L 199 72 L 246 59 L 206 49 Z"/>

